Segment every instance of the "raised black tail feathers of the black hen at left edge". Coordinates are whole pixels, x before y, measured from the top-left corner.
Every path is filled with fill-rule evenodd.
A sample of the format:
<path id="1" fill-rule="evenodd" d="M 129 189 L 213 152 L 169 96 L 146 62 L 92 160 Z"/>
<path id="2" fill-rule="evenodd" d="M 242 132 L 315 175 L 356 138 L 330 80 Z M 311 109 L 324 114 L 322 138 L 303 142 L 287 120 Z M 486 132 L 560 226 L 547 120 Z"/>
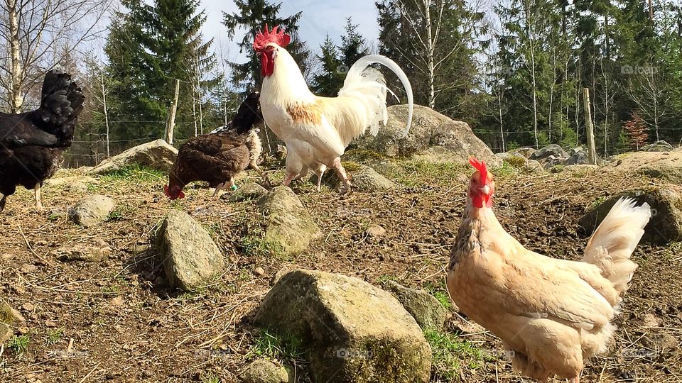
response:
<path id="1" fill-rule="evenodd" d="M 70 74 L 50 70 L 45 74 L 43 96 L 40 101 L 40 119 L 48 125 L 49 133 L 60 140 L 71 140 L 78 114 L 83 110 L 82 89 L 72 81 Z"/>

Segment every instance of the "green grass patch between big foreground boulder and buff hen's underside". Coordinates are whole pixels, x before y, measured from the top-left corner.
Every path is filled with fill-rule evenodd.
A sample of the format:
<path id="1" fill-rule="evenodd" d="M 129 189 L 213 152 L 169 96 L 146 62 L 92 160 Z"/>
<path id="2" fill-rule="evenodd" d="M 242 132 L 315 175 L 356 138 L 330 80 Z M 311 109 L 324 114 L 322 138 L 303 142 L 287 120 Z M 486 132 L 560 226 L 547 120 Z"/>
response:
<path id="1" fill-rule="evenodd" d="M 432 382 L 453 382 L 462 368 L 476 370 L 482 362 L 492 360 L 485 351 L 453 333 L 433 328 L 425 328 L 423 333 L 433 352 Z"/>

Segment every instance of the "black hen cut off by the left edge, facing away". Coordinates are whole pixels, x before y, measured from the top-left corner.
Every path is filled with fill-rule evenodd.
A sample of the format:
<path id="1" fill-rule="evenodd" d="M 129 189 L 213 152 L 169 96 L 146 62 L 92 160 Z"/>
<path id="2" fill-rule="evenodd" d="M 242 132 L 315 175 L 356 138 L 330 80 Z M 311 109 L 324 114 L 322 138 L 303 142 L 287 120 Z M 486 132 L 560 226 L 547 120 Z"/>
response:
<path id="1" fill-rule="evenodd" d="M 21 114 L 0 113 L 0 211 L 16 187 L 36 191 L 55 174 L 62 154 L 70 148 L 76 118 L 83 109 L 80 87 L 66 73 L 45 74 L 40 108 Z"/>

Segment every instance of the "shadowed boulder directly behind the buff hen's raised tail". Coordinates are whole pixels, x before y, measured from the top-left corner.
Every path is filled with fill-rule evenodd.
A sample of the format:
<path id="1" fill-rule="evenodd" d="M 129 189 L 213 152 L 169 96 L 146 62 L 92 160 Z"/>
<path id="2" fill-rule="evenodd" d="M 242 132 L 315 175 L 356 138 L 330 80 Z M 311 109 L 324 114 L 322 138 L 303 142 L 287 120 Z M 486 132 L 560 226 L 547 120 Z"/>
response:
<path id="1" fill-rule="evenodd" d="M 580 218 L 578 224 L 587 233 L 592 233 L 602 222 L 613 205 L 622 196 L 637 199 L 640 204 L 651 206 L 651 221 L 644 228 L 642 240 L 666 245 L 682 240 L 682 188 L 676 185 L 666 187 L 645 187 L 623 191 Z"/>

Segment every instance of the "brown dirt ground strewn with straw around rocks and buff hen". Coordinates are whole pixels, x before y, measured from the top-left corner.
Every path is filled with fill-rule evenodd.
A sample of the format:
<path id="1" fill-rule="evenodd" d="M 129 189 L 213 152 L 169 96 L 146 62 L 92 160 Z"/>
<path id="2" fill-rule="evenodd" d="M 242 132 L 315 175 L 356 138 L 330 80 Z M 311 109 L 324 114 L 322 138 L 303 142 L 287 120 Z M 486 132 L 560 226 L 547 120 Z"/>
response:
<path id="1" fill-rule="evenodd" d="M 88 229 L 64 214 L 84 193 L 45 187 L 46 209 L 38 213 L 32 193 L 21 189 L 0 214 L 0 296 L 26 317 L 28 333 L 21 350 L 7 344 L 0 350 L 0 381 L 237 382 L 249 362 L 269 353 L 251 318 L 271 277 L 284 269 L 339 272 L 378 286 L 393 279 L 443 294 L 471 171 L 412 161 L 384 165 L 399 189 L 341 195 L 328 188 L 315 193 L 311 184 L 294 187 L 324 233 L 296 257 L 262 247 L 253 202 L 212 199 L 199 186 L 171 202 L 163 196 L 166 180 L 155 172 L 90 184 L 89 194 L 110 196 L 117 207 L 109 221 Z M 519 174 L 505 167 L 495 174 L 504 228 L 531 250 L 570 260 L 580 258 L 587 240 L 578 229 L 585 211 L 618 191 L 659 183 L 603 170 Z M 271 179 L 281 176 L 277 170 Z M 256 180 L 248 174 L 239 183 Z M 170 209 L 195 217 L 229 257 L 222 277 L 200 292 L 183 294 L 165 284 L 153 238 Z M 367 238 L 374 225 L 384 226 L 386 236 Z M 61 262 L 50 254 L 94 240 L 112 248 L 108 260 Z M 682 382 L 682 247 L 640 245 L 634 260 L 640 267 L 616 320 L 615 345 L 588 363 L 584 382 Z M 256 276 L 256 267 L 264 275 Z M 462 353 L 454 377 L 434 369 L 433 382 L 529 382 L 511 372 L 499 340 L 479 330 L 451 315 L 447 332 L 480 353 L 473 360 Z M 279 355 L 308 381 L 303 357 Z"/>

